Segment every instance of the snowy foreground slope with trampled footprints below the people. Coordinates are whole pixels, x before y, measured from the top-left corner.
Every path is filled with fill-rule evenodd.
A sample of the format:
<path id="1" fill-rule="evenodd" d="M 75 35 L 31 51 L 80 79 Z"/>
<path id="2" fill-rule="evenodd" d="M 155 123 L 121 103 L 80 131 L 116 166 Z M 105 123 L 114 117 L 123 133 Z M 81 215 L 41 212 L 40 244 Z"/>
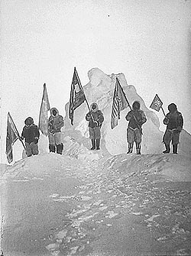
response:
<path id="1" fill-rule="evenodd" d="M 173 155 L 18 161 L 2 176 L 5 255 L 189 255 L 190 182 L 165 173 L 170 163 Z"/>

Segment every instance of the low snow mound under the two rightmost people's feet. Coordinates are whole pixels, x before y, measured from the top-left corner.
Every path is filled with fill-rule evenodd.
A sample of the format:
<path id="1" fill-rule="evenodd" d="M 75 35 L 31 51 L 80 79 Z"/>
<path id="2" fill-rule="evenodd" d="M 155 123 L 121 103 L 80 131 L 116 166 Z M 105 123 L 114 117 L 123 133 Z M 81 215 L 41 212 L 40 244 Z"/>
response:
<path id="1" fill-rule="evenodd" d="M 121 177 L 154 174 L 173 182 L 190 182 L 191 157 L 174 154 L 120 154 L 105 162 L 105 168 L 115 170 Z"/>

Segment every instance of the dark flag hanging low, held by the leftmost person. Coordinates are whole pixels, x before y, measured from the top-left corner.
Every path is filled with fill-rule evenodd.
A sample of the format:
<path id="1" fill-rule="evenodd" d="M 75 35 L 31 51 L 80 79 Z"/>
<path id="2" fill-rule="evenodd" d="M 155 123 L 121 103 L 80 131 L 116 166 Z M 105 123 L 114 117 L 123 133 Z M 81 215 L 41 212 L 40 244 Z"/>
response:
<path id="1" fill-rule="evenodd" d="M 10 113 L 8 112 L 8 125 L 7 125 L 7 137 L 6 137 L 6 152 L 8 163 L 10 164 L 13 160 L 13 154 L 12 154 L 12 145 L 17 141 L 17 139 L 20 138 L 18 134 L 18 130 L 15 126 L 15 123 L 13 122 L 13 119 L 11 118 Z"/>

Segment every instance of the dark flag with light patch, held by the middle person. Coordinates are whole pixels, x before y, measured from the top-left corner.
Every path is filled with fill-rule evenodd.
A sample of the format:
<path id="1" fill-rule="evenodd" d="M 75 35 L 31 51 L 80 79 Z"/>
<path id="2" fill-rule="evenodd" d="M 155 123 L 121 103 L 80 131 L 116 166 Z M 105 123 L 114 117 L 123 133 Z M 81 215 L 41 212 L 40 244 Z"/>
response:
<path id="1" fill-rule="evenodd" d="M 86 100 L 86 96 L 83 92 L 83 86 L 81 85 L 76 71 L 76 67 L 73 72 L 73 82 L 70 91 L 70 105 L 69 105 L 69 118 L 71 125 L 73 125 L 73 112 Z"/>

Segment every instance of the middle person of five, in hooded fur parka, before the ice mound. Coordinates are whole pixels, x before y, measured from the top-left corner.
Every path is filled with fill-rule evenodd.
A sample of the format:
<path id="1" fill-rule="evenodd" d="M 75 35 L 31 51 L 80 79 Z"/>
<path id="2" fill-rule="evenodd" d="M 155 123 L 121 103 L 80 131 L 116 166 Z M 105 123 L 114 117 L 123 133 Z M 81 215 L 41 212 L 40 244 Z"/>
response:
<path id="1" fill-rule="evenodd" d="M 100 139 L 101 139 L 101 127 L 104 121 L 103 114 L 99 110 L 97 103 L 92 103 L 90 105 L 90 112 L 86 115 L 86 120 L 89 122 L 89 138 L 92 141 L 91 150 L 100 149 Z"/>

